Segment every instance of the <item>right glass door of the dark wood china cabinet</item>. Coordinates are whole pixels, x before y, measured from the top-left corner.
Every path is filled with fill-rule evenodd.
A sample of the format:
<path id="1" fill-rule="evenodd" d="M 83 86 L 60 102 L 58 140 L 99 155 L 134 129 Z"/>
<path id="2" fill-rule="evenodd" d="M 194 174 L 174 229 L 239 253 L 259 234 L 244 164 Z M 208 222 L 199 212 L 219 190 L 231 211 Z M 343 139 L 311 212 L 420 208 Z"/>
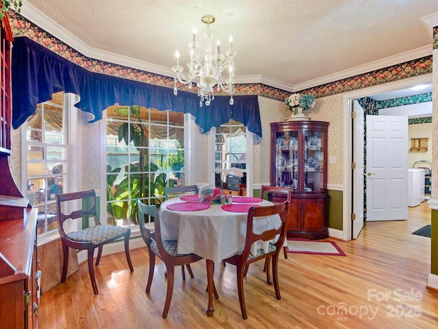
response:
<path id="1" fill-rule="evenodd" d="M 304 192 L 323 192 L 324 186 L 324 132 L 304 132 Z"/>

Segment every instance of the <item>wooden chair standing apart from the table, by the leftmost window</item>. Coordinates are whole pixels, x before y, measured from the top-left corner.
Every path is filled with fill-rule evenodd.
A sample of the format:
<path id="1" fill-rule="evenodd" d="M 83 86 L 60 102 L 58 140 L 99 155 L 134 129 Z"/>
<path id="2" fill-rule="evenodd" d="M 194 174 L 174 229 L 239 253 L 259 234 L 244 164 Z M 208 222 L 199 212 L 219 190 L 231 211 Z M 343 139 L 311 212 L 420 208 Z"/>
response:
<path id="1" fill-rule="evenodd" d="M 61 282 L 66 280 L 67 267 L 68 267 L 68 248 L 74 249 L 86 249 L 88 253 L 88 271 L 90 272 L 91 285 L 93 287 L 94 294 L 98 294 L 96 279 L 94 278 L 93 267 L 93 255 L 94 249 L 98 248 L 96 266 L 99 265 L 102 256 L 103 245 L 115 241 L 117 239 L 125 239 L 125 254 L 128 261 L 129 269 L 131 272 L 134 270 L 131 263 L 131 257 L 129 256 L 129 236 L 131 235 L 130 228 L 122 228 L 120 226 L 103 225 L 99 221 L 96 210 L 96 192 L 79 191 L 73 193 L 57 194 L 56 196 L 56 219 L 57 229 L 60 232 L 60 238 L 62 243 L 62 275 Z M 70 214 L 64 214 L 66 209 L 66 202 L 81 201 L 81 205 L 85 202 L 91 201 L 91 206 L 88 210 L 75 210 Z M 82 217 L 86 217 L 92 220 L 92 226 L 77 230 L 75 232 L 66 233 L 63 223 L 67 219 L 82 220 Z"/>

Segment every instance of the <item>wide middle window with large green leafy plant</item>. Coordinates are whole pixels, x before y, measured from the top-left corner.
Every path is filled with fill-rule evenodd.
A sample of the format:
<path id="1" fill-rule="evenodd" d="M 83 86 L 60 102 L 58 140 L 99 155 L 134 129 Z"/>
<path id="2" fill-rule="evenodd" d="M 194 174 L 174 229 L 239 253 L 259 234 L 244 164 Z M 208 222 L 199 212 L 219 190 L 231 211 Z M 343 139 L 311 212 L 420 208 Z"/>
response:
<path id="1" fill-rule="evenodd" d="M 107 223 L 136 225 L 137 199 L 159 206 L 165 186 L 184 185 L 184 114 L 140 106 L 106 112 Z"/>

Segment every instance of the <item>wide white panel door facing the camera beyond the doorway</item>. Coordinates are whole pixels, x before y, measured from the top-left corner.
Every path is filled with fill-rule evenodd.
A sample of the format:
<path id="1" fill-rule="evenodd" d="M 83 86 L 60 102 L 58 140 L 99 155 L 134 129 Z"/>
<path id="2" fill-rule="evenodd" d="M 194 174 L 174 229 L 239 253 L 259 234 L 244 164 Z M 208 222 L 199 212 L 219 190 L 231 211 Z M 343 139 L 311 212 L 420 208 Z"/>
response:
<path id="1" fill-rule="evenodd" d="M 367 221 L 407 219 L 408 117 L 366 120 Z"/>

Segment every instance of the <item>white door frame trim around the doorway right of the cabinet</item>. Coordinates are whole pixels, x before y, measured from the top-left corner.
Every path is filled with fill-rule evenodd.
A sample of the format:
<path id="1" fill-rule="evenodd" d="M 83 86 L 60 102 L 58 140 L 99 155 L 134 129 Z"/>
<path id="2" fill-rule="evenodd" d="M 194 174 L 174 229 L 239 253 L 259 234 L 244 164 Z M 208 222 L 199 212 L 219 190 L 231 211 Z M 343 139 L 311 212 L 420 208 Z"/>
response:
<path id="1" fill-rule="evenodd" d="M 402 90 L 417 86 L 418 84 L 431 84 L 432 75 L 426 75 L 423 77 L 418 77 L 417 79 L 395 82 L 394 84 L 389 84 L 386 86 L 376 86 L 368 88 L 366 90 L 357 90 L 352 93 L 347 93 L 344 95 L 343 107 L 344 107 L 344 196 L 343 196 L 343 232 L 342 239 L 345 241 L 350 241 L 352 239 L 352 199 L 355 195 L 355 188 L 353 182 L 353 175 L 351 169 L 351 159 L 353 153 L 353 143 L 352 143 L 352 119 L 351 119 L 351 104 L 353 99 L 361 97 L 369 97 L 370 95 L 378 95 L 382 93 L 394 92 L 396 90 Z M 415 94 L 413 94 L 415 95 Z"/>

